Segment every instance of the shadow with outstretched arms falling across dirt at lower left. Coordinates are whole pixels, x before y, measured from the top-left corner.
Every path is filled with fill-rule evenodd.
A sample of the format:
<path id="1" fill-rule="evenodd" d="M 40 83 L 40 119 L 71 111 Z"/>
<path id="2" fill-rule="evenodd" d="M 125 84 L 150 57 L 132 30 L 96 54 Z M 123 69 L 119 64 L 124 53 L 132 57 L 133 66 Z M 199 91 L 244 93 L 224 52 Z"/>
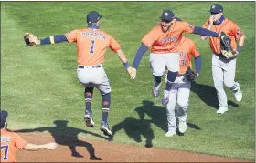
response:
<path id="1" fill-rule="evenodd" d="M 16 130 L 15 132 L 27 133 L 27 132 L 48 131 L 52 135 L 52 137 L 55 139 L 56 143 L 69 147 L 71 151 L 71 155 L 73 157 L 83 158 L 83 156 L 80 155 L 80 153 L 76 150 L 76 147 L 85 147 L 90 154 L 91 160 L 102 160 L 101 158 L 98 158 L 95 156 L 95 150 L 92 144 L 80 140 L 78 138 L 78 135 L 80 133 L 85 133 L 85 134 L 91 134 L 95 137 L 100 137 L 100 138 L 105 138 L 105 137 L 102 137 L 101 135 L 92 133 L 90 131 L 82 130 L 80 128 L 68 127 L 67 120 L 55 120 L 53 123 L 56 125 L 55 127 L 38 127 L 34 129 L 20 129 L 20 130 Z"/>

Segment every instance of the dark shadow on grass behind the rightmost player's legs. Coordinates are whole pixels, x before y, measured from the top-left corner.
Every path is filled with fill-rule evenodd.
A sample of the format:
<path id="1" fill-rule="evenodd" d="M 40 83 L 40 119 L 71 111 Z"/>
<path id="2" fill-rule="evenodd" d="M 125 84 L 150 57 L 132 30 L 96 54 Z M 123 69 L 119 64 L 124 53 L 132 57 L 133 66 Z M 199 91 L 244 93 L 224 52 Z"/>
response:
<path id="1" fill-rule="evenodd" d="M 191 82 L 190 90 L 197 94 L 197 96 L 208 106 L 219 109 L 219 101 L 215 87 L 198 84 L 195 81 Z M 228 106 L 239 107 L 233 101 L 228 101 Z"/>

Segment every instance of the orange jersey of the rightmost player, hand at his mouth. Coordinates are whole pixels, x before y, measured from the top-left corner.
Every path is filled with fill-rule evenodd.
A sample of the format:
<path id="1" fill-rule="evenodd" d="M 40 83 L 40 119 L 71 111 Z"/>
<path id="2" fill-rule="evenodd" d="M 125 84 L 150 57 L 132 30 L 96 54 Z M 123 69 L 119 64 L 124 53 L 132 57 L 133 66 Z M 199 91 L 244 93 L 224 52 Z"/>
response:
<path id="1" fill-rule="evenodd" d="M 203 27 L 208 28 L 208 20 L 203 25 Z M 229 20 L 228 18 L 225 18 L 224 22 L 222 22 L 220 25 L 212 25 L 210 30 L 218 33 L 225 32 L 231 40 L 232 49 L 236 51 L 236 41 L 240 39 L 240 36 L 243 35 L 243 32 L 240 30 L 240 27 L 235 22 Z M 213 53 L 215 53 L 216 55 L 220 54 L 220 41 L 218 37 L 211 36 L 209 38 L 209 45 Z"/>

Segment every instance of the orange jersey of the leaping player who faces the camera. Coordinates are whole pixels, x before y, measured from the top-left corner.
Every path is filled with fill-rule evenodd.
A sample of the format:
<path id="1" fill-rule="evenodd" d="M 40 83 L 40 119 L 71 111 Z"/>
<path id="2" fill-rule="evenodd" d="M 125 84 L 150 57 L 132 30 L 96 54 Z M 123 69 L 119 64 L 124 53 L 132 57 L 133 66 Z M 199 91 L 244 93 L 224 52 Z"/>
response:
<path id="1" fill-rule="evenodd" d="M 164 33 L 161 25 L 156 25 L 142 39 L 145 46 L 152 47 L 151 52 L 156 54 L 166 54 L 177 52 L 183 33 L 193 33 L 194 25 L 187 22 L 174 21 L 168 32 Z"/>

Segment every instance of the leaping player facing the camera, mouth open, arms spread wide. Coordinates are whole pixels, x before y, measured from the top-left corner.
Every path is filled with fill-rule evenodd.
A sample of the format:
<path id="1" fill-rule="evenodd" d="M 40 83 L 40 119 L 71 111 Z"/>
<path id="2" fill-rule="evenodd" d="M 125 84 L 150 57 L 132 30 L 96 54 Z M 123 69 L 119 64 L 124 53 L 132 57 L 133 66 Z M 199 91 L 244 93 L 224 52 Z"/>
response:
<path id="1" fill-rule="evenodd" d="M 160 16 L 161 23 L 156 25 L 142 39 L 133 60 L 132 79 L 136 77 L 139 63 L 149 47 L 151 47 L 150 66 L 154 76 L 153 96 L 159 96 L 161 77 L 165 74 L 165 67 L 168 69 L 167 79 L 171 85 L 175 81 L 179 71 L 179 55 L 177 46 L 180 44 L 183 33 L 194 33 L 203 36 L 219 37 L 220 34 L 191 25 L 187 22 L 177 22 L 174 13 L 170 10 L 163 11 Z M 170 87 L 170 86 L 169 86 Z"/>

